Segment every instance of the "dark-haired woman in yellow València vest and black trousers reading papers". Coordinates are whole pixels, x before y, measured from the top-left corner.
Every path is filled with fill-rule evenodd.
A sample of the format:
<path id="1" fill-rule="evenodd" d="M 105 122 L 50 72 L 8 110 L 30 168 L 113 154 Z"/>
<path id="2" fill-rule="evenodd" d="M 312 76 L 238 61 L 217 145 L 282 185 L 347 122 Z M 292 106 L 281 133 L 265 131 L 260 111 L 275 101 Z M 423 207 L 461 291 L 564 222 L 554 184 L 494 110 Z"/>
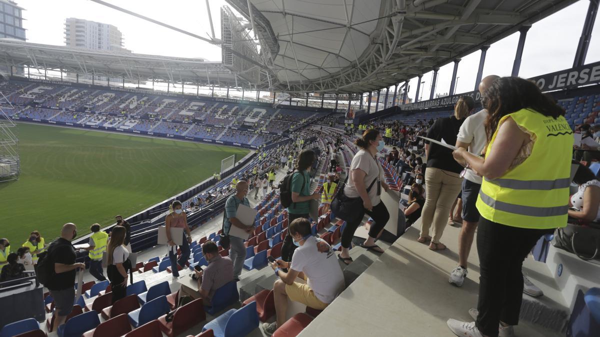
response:
<path id="1" fill-rule="evenodd" d="M 460 336 L 509 335 L 523 296 L 521 266 L 544 234 L 565 227 L 573 132 L 565 110 L 529 80 L 502 77 L 482 97 L 488 111 L 485 159 L 460 148 L 454 158 L 484 177 L 477 200 L 479 302 L 475 322 L 448 320 Z"/>

